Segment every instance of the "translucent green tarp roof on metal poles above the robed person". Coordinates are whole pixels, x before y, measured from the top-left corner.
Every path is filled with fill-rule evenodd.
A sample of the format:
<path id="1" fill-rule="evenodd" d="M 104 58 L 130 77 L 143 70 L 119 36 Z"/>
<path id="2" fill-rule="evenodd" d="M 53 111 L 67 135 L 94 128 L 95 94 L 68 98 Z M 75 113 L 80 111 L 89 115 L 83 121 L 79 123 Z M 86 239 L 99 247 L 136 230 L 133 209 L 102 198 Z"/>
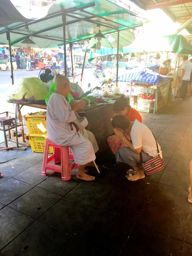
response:
<path id="1" fill-rule="evenodd" d="M 9 12 L 9 9 L 6 8 L 6 5 L 9 2 L 10 0 L 6 0 L 6 3 L 4 3 L 5 18 L 6 14 Z M 85 7 L 90 4 L 95 4 L 95 6 L 85 8 L 84 10 L 86 12 L 90 12 L 91 14 L 85 13 L 81 10 L 73 9 Z M 72 9 L 73 11 L 70 12 Z M 134 28 L 137 26 L 142 26 L 143 22 L 146 22 L 145 19 L 136 16 L 134 13 L 129 12 L 128 10 L 108 0 L 65 0 L 52 5 L 48 10 L 48 15 L 42 19 L 39 19 L 38 23 L 34 23 L 33 21 L 26 22 L 29 27 L 30 34 L 32 35 L 32 40 L 36 43 L 33 45 L 33 47 L 56 47 L 63 44 L 63 22 L 62 16 L 60 15 L 63 11 L 67 12 L 67 42 L 87 40 L 91 37 L 94 37 L 94 35 L 98 33 L 99 30 L 98 24 L 101 25 L 101 32 L 103 34 L 108 34 L 117 31 L 117 29 L 122 31 L 128 29 L 129 27 Z M 94 14 L 98 15 L 99 17 L 95 17 Z M 51 15 L 54 15 L 54 17 L 47 19 L 47 17 L 50 17 Z M 107 18 L 109 21 L 102 19 L 101 17 Z M 78 18 L 85 19 L 85 21 L 79 20 Z M 96 24 L 90 23 L 89 21 L 96 22 Z M 115 21 L 115 23 L 113 21 Z M 6 32 L 7 30 L 11 29 L 11 45 L 15 47 L 26 46 L 21 44 L 21 41 L 26 38 L 26 35 L 21 35 L 19 33 L 27 34 L 27 29 L 25 26 L 22 28 L 16 28 L 17 26 L 17 23 L 12 23 L 6 27 L 0 27 L 0 44 L 8 43 L 6 34 L 2 34 L 2 32 Z M 44 40 L 35 36 L 49 37 L 53 40 Z"/>

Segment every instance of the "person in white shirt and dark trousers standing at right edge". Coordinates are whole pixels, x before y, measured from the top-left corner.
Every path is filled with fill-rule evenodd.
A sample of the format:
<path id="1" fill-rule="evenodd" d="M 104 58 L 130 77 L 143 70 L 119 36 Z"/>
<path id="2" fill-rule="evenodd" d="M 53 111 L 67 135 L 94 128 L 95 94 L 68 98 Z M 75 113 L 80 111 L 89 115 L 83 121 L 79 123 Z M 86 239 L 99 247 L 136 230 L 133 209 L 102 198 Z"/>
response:
<path id="1" fill-rule="evenodd" d="M 181 66 L 181 81 L 182 81 L 182 86 L 181 86 L 181 93 L 180 93 L 180 99 L 185 99 L 186 94 L 187 94 L 187 87 L 190 82 L 190 76 L 191 76 L 191 71 L 192 71 L 192 63 L 188 60 L 188 56 L 184 55 L 183 56 L 183 64 Z"/>

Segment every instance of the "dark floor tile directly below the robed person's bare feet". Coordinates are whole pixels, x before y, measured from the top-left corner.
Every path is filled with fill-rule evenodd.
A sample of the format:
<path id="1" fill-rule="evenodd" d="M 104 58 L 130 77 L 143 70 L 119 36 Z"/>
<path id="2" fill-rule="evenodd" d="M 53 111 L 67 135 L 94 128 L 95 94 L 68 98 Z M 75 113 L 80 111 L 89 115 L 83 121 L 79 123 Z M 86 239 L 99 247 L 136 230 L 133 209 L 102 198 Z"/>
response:
<path id="1" fill-rule="evenodd" d="M 98 186 L 95 182 L 81 182 L 65 197 L 80 203 L 97 207 L 110 193 L 111 188 Z"/>

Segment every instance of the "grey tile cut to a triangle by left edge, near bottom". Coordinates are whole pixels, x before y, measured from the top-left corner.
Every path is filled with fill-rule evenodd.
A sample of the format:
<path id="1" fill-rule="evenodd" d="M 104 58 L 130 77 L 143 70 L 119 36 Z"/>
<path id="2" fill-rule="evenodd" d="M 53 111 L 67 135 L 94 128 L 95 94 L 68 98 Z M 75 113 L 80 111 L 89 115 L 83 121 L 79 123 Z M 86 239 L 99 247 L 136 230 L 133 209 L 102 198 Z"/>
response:
<path id="1" fill-rule="evenodd" d="M 34 220 L 9 207 L 0 210 L 0 249 L 27 228 Z M 9 254 L 13 255 L 13 254 Z"/>

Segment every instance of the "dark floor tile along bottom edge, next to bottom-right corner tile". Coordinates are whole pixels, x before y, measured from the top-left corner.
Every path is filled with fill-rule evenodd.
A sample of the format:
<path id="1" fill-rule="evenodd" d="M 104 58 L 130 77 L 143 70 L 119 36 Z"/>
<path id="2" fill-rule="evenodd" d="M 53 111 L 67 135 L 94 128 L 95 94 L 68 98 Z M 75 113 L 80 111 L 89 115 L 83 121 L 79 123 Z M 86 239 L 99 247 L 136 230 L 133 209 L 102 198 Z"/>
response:
<path id="1" fill-rule="evenodd" d="M 139 243 L 138 243 L 139 241 Z M 161 242 L 160 242 L 161 241 Z M 161 243 L 161 246 L 159 245 Z M 136 225 L 131 231 L 122 251 L 122 256 L 178 256 L 181 241 L 154 230 Z"/>

